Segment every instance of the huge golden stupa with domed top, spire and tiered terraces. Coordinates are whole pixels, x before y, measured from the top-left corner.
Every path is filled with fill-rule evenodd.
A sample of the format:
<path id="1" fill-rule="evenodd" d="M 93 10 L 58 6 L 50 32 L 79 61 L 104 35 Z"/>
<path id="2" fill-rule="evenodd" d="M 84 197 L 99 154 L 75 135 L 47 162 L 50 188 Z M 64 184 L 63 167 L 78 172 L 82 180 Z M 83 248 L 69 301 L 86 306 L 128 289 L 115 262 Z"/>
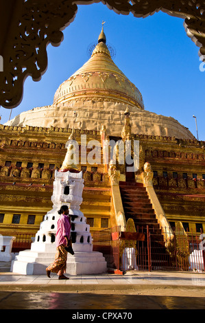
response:
<path id="1" fill-rule="evenodd" d="M 137 192 L 129 192 L 131 210 L 129 203 L 123 206 L 121 188 L 130 181 L 131 190 L 134 181 L 146 186 L 143 194 L 149 192 L 152 208 L 145 210 L 154 209 L 160 227 L 167 226 L 166 215 L 171 227 L 180 221 L 189 234 L 205 230 L 205 144 L 177 120 L 145 110 L 140 91 L 113 62 L 104 28 L 91 58 L 58 87 L 53 104 L 0 126 L 1 234 L 35 235 L 53 205 L 55 174 L 67 170 L 82 171 L 80 209 L 93 237 L 97 231 L 124 226 L 141 212 L 132 207 Z M 138 142 L 138 151 L 131 138 Z M 119 153 L 119 145 L 126 148 L 125 140 L 138 157 L 133 164 L 137 171 L 128 172 L 119 162 L 126 157 L 126 151 Z"/>

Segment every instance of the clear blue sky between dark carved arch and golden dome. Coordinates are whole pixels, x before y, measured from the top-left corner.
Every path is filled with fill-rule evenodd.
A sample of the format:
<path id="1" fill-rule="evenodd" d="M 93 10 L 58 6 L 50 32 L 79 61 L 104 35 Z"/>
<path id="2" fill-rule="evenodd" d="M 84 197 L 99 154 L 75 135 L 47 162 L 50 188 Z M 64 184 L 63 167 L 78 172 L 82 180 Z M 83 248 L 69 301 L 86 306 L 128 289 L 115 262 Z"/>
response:
<path id="1" fill-rule="evenodd" d="M 58 86 L 88 60 L 88 47 L 97 42 L 101 22 L 114 47 L 114 63 L 143 95 L 145 109 L 171 116 L 205 141 L 205 71 L 200 71 L 199 47 L 186 35 L 183 19 L 158 12 L 147 18 L 116 14 L 102 3 L 79 5 L 75 20 L 59 47 L 49 45 L 48 68 L 40 82 L 25 80 L 23 101 L 12 110 L 22 111 L 52 104 Z M 203 65 L 205 67 L 205 64 Z M 0 108 L 1 124 L 10 110 Z"/>

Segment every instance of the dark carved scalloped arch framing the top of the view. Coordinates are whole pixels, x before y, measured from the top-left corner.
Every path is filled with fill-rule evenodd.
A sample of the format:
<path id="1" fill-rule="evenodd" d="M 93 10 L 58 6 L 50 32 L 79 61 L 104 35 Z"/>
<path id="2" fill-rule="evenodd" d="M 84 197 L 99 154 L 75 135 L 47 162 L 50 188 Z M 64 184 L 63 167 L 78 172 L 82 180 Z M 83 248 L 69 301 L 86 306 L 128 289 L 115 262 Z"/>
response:
<path id="1" fill-rule="evenodd" d="M 205 1 L 202 0 L 101 0 L 117 14 L 146 17 L 162 11 L 184 19 L 186 34 L 200 47 L 205 61 Z M 6 2 L 6 3 L 5 3 Z M 0 0 L 0 104 L 12 109 L 23 98 L 27 76 L 40 80 L 47 69 L 47 45 L 58 46 L 62 30 L 77 13 L 77 5 L 100 0 Z M 0 57 L 1 57 L 0 56 Z"/>

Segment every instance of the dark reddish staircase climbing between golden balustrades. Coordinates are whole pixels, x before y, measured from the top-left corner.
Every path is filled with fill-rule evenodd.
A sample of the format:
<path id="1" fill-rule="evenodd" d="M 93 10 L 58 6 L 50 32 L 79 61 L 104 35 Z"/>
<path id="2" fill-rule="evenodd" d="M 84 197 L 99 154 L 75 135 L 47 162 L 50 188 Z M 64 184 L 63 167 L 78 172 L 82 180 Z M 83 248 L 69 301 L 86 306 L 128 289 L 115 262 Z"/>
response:
<path id="1" fill-rule="evenodd" d="M 146 236 L 146 241 L 147 225 L 149 227 L 152 270 L 169 267 L 169 254 L 165 248 L 164 238 L 160 225 L 156 219 L 153 205 L 149 200 L 143 183 L 120 181 L 119 188 L 126 221 L 128 221 L 129 218 L 132 218 L 134 220 L 136 232 L 143 232 Z M 144 244 L 143 248 L 147 248 L 145 241 L 138 241 L 138 248 L 140 248 L 142 244 Z M 145 253 L 147 254 L 147 252 Z M 145 266 L 147 266 L 147 263 Z"/>

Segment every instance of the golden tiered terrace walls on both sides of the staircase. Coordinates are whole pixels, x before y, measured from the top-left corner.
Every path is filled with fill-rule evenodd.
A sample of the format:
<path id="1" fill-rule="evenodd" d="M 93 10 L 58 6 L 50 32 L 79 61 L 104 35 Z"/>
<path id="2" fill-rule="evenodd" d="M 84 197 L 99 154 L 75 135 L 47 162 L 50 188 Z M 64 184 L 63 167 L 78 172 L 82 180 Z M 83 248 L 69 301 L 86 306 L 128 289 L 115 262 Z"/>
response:
<path id="1" fill-rule="evenodd" d="M 0 233 L 36 232 L 51 209 L 53 172 L 64 160 L 71 129 L 1 125 L 0 133 Z M 88 141 L 101 140 L 99 131 L 75 130 L 78 142 L 81 134 L 86 134 Z M 189 230 L 196 224 L 204 227 L 204 142 L 156 135 L 135 135 L 134 139 L 140 142 L 142 164 L 149 161 L 155 172 L 154 189 L 167 219 L 189 223 Z M 17 162 L 21 166 L 16 166 Z M 104 165 L 82 164 L 78 168 L 83 170 L 85 185 L 81 208 L 91 232 L 115 225 Z M 20 215 L 19 223 L 15 223 L 14 214 Z M 29 216 L 35 216 L 34 223 L 28 223 Z"/>

